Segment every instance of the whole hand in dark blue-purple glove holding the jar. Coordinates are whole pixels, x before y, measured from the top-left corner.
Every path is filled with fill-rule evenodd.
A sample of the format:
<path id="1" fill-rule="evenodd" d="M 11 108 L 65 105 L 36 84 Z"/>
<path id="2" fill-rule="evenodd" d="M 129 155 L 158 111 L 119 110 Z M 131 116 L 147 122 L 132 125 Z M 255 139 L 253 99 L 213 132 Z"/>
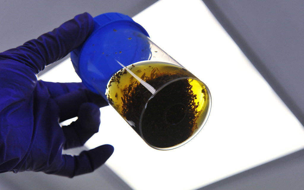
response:
<path id="1" fill-rule="evenodd" d="M 84 13 L 14 49 L 0 53 L 0 172 L 35 171 L 73 177 L 94 171 L 113 153 L 102 145 L 78 156 L 63 148 L 82 146 L 100 124 L 107 102 L 82 83 L 37 81 L 43 68 L 63 58 L 90 35 Z M 78 116 L 69 126 L 59 122 Z"/>

